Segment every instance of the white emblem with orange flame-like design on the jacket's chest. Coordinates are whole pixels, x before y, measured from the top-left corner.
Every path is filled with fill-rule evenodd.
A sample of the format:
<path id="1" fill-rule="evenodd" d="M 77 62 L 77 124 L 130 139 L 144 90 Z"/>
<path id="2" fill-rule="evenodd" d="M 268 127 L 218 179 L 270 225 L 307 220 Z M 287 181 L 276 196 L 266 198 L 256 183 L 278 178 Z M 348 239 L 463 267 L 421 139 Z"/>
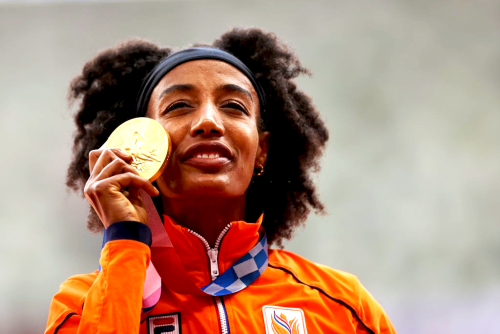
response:
<path id="1" fill-rule="evenodd" d="M 304 312 L 300 308 L 262 307 L 266 334 L 307 334 Z"/>

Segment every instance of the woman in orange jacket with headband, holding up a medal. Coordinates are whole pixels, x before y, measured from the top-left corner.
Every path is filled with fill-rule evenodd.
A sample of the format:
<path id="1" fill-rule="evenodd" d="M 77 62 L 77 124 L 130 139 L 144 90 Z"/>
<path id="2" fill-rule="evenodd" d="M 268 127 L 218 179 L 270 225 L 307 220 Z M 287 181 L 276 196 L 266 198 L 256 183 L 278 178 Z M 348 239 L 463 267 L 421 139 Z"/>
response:
<path id="1" fill-rule="evenodd" d="M 101 268 L 61 285 L 46 333 L 395 332 L 356 277 L 267 249 L 323 211 L 310 173 L 328 132 L 302 73 L 259 29 L 177 53 L 131 41 L 85 65 L 67 184 L 105 228 Z M 100 148 L 137 116 L 171 136 L 155 184 Z"/>

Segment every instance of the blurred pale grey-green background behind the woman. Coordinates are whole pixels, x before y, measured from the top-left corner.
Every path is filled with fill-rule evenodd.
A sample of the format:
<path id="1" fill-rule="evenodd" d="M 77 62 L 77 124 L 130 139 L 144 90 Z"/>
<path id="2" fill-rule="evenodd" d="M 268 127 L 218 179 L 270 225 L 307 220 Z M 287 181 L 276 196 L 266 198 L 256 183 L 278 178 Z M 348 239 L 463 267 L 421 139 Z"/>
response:
<path id="1" fill-rule="evenodd" d="M 0 0 L 0 332 L 42 333 L 98 266 L 64 185 L 69 81 L 132 37 L 183 47 L 235 26 L 291 45 L 331 139 L 329 215 L 286 249 L 359 277 L 399 333 L 500 333 L 500 2 Z"/>

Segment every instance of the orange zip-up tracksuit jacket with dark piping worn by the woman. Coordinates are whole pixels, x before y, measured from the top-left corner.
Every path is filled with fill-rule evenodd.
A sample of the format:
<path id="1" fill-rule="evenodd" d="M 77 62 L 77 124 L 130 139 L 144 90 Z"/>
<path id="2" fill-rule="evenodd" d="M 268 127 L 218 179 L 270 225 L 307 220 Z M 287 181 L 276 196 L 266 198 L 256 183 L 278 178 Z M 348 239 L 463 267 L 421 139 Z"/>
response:
<path id="1" fill-rule="evenodd" d="M 219 247 L 220 273 L 257 243 L 261 221 L 231 223 Z M 164 226 L 192 281 L 199 287 L 210 283 L 204 242 L 168 216 Z M 183 295 L 163 285 L 159 302 L 142 313 L 151 252 L 146 243 L 131 239 L 107 242 L 100 272 L 70 277 L 60 286 L 46 334 L 396 333 L 355 276 L 277 249 L 269 249 L 262 275 L 237 293 Z"/>

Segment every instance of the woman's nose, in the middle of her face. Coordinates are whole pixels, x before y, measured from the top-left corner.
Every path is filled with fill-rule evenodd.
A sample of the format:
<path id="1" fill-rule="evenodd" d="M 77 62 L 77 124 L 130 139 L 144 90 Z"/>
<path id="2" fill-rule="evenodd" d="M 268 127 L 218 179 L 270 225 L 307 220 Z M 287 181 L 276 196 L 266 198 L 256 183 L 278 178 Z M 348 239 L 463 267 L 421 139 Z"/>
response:
<path id="1" fill-rule="evenodd" d="M 191 136 L 222 136 L 224 126 L 219 114 L 219 110 L 212 103 L 200 106 L 195 112 L 195 118 L 191 126 Z"/>

